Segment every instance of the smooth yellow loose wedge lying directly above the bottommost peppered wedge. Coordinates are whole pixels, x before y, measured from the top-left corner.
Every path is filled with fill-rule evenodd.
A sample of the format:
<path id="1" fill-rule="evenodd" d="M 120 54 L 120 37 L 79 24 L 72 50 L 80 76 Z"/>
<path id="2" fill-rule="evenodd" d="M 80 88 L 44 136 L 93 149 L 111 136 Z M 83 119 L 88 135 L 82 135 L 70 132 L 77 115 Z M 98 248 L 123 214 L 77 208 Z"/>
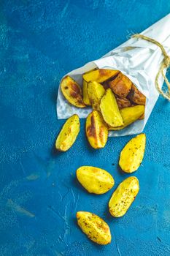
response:
<path id="1" fill-rule="evenodd" d="M 106 170 L 93 166 L 81 166 L 77 169 L 77 179 L 89 193 L 104 194 L 115 184 L 112 175 Z"/>

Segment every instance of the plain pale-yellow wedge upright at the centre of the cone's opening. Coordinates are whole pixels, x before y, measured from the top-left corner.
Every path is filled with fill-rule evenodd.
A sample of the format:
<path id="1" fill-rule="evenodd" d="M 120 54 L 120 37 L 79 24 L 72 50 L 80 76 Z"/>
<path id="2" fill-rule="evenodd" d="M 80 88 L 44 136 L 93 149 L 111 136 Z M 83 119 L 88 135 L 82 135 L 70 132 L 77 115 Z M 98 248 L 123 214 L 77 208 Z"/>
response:
<path id="1" fill-rule="evenodd" d="M 120 127 L 123 125 L 123 118 L 120 115 L 120 110 L 117 106 L 115 95 L 111 89 L 107 89 L 100 103 L 101 114 L 104 121 L 110 127 Z"/>

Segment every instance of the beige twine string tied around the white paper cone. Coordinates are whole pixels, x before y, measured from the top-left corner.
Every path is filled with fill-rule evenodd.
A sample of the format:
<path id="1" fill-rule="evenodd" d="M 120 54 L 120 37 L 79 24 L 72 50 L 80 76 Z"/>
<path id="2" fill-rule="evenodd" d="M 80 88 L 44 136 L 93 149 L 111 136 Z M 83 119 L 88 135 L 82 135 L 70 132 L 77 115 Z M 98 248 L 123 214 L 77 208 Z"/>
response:
<path id="1" fill-rule="evenodd" d="M 158 70 L 158 74 L 156 75 L 156 78 L 155 78 L 155 87 L 158 90 L 159 94 L 161 94 L 164 98 L 166 98 L 170 101 L 170 83 L 169 83 L 168 78 L 164 74 L 164 69 L 170 67 L 170 56 L 166 53 L 166 50 L 163 47 L 163 45 L 161 45 L 161 43 L 156 41 L 155 39 L 146 37 L 143 34 L 134 34 L 132 37 L 147 40 L 148 42 L 152 42 L 153 44 L 155 44 L 159 48 L 161 48 L 164 58 L 163 58 L 163 61 L 161 62 L 161 66 L 160 66 L 160 68 Z M 166 92 L 164 92 L 163 89 L 161 89 L 161 86 L 159 85 L 158 80 L 160 78 L 160 75 L 163 76 L 163 79 L 165 80 L 166 86 L 168 88 Z"/>

